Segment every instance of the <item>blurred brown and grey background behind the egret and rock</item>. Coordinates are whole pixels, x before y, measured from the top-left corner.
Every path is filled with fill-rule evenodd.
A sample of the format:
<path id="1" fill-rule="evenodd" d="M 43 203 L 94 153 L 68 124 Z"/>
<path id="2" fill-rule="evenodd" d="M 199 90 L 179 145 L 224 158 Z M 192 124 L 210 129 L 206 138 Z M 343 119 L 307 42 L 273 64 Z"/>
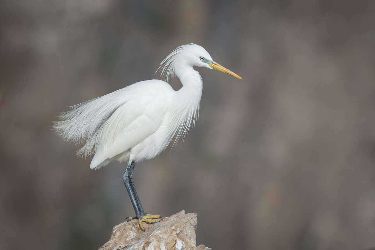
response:
<path id="1" fill-rule="evenodd" d="M 190 42 L 243 80 L 199 68 L 195 128 L 135 167 L 145 210 L 197 212 L 197 245 L 214 250 L 374 248 L 374 13 L 371 0 L 1 1 L 0 248 L 97 249 L 134 215 L 125 165 L 91 170 L 51 121 L 160 79 Z"/>

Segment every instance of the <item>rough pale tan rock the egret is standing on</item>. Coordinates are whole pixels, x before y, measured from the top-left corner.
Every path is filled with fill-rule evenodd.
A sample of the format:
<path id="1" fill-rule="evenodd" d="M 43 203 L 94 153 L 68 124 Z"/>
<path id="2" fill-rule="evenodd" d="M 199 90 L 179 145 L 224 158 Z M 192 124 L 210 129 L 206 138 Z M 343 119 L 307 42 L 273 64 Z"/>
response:
<path id="1" fill-rule="evenodd" d="M 138 220 L 125 221 L 113 227 L 110 240 L 99 250 L 210 250 L 195 246 L 196 224 L 197 214 L 184 210 L 154 224 L 143 222 L 145 232 Z"/>

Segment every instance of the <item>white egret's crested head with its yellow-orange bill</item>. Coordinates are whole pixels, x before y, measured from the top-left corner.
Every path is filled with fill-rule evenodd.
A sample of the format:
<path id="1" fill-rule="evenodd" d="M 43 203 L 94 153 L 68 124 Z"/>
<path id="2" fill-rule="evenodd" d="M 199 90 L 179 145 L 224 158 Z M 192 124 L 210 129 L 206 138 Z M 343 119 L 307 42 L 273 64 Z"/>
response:
<path id="1" fill-rule="evenodd" d="M 166 74 L 166 81 L 168 81 L 168 79 L 173 78 L 176 71 L 183 66 L 199 66 L 217 69 L 228 75 L 242 79 L 234 72 L 214 62 L 210 54 L 208 54 L 203 47 L 196 44 L 186 44 L 176 48 L 160 63 L 159 69 L 161 68 L 162 75 Z"/>

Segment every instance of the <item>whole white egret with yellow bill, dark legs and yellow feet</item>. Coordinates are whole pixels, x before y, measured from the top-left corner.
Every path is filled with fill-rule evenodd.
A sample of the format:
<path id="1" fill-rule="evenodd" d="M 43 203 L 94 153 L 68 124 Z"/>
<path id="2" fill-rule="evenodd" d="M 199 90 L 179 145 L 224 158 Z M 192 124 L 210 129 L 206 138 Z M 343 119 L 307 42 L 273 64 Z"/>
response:
<path id="1" fill-rule="evenodd" d="M 134 83 L 108 95 L 72 106 L 61 114 L 54 130 L 66 140 L 84 143 L 79 156 L 91 156 L 90 168 L 112 161 L 127 162 L 123 181 L 142 230 L 142 222 L 160 221 L 160 215 L 144 212 L 133 183 L 135 163 L 160 154 L 172 138 L 187 133 L 198 117 L 202 78 L 193 66 L 217 69 L 242 79 L 214 62 L 199 45 L 176 48 L 160 64 L 166 81 L 177 75 L 182 87 L 175 91 L 161 80 Z M 158 70 L 159 70 L 158 69 Z M 151 220 L 157 219 L 157 220 Z"/>

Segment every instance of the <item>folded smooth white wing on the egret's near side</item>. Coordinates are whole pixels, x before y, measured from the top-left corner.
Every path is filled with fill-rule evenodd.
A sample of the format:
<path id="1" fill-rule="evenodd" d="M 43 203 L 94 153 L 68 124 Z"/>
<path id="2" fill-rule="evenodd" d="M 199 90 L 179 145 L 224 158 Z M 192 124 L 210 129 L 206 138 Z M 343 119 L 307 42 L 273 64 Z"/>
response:
<path id="1" fill-rule="evenodd" d="M 163 95 L 142 97 L 118 107 L 93 137 L 98 146 L 90 167 L 97 167 L 144 141 L 160 127 L 165 111 Z M 88 145 L 91 144 L 81 150 L 91 151 L 86 148 Z"/>

